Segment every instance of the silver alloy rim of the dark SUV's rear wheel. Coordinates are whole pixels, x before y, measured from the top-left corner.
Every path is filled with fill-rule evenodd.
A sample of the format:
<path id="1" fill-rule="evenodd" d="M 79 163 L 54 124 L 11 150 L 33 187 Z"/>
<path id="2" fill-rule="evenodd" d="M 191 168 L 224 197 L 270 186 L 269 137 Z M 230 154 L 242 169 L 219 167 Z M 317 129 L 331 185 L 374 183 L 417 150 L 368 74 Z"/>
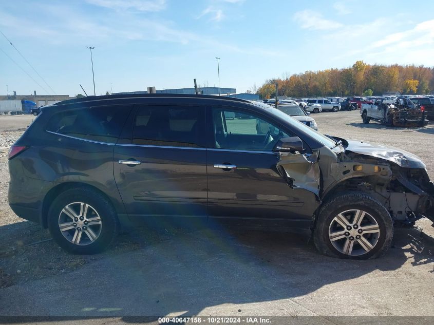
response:
<path id="1" fill-rule="evenodd" d="M 69 242 L 84 246 L 98 239 L 102 222 L 95 208 L 84 202 L 73 202 L 60 212 L 59 228 Z"/>

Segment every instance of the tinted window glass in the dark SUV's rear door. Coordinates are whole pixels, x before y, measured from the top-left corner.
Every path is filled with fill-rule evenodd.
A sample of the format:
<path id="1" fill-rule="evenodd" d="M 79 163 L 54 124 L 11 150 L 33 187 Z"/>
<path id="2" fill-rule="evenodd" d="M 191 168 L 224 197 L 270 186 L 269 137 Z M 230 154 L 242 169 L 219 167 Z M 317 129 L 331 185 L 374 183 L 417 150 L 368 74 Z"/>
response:
<path id="1" fill-rule="evenodd" d="M 140 107 L 134 123 L 133 144 L 201 147 L 204 111 L 197 106 Z"/>

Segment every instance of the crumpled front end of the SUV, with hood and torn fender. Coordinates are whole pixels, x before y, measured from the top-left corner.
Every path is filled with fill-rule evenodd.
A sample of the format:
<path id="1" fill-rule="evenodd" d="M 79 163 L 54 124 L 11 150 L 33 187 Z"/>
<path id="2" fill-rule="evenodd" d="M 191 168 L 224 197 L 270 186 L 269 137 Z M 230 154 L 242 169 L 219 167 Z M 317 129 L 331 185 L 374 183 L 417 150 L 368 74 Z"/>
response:
<path id="1" fill-rule="evenodd" d="M 328 148 L 310 156 L 280 153 L 277 170 L 288 186 L 310 192 L 316 208 L 333 193 L 353 190 L 378 199 L 397 225 L 411 226 L 423 216 L 434 222 L 434 184 L 419 157 L 376 143 L 342 140 L 345 150 L 337 155 Z"/>

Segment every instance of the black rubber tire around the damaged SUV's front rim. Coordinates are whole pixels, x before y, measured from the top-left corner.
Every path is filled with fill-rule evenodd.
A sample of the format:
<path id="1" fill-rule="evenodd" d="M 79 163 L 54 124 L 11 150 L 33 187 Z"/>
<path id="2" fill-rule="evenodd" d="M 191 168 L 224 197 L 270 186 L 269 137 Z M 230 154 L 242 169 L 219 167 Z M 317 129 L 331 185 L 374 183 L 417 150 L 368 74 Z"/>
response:
<path id="1" fill-rule="evenodd" d="M 331 226 L 333 219 L 338 214 L 350 211 L 351 209 L 359 209 L 366 212 L 370 218 L 375 220 L 379 228 L 378 239 L 376 239 L 376 243 L 373 245 L 373 248 L 361 255 L 346 255 L 338 251 L 337 248 L 333 246 L 332 241 L 329 238 L 329 227 Z M 360 228 L 362 228 L 362 225 Z M 354 227 L 354 231 L 355 229 L 356 227 Z M 373 234 L 365 235 L 370 236 Z M 325 202 L 320 208 L 313 238 L 317 250 L 324 255 L 348 259 L 378 258 L 384 255 L 391 245 L 393 238 L 392 218 L 390 217 L 390 214 L 384 205 L 365 193 L 338 193 L 330 200 Z M 347 238 L 348 237 L 345 237 L 342 240 L 346 241 Z M 354 246 L 352 247 L 363 248 L 362 245 L 358 244 L 357 240 L 354 240 L 353 245 Z"/>

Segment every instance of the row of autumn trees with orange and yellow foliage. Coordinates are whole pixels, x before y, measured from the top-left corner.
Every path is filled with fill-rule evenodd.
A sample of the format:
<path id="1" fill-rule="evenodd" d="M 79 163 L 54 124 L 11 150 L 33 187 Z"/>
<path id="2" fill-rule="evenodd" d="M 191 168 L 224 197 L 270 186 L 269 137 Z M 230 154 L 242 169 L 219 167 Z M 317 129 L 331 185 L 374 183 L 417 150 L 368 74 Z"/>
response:
<path id="1" fill-rule="evenodd" d="M 351 67 L 306 71 L 284 79 L 270 79 L 256 91 L 261 98 L 278 95 L 301 97 L 346 97 L 382 95 L 399 91 L 405 94 L 428 94 L 434 91 L 434 67 L 416 65 L 369 65 L 357 61 Z"/>

